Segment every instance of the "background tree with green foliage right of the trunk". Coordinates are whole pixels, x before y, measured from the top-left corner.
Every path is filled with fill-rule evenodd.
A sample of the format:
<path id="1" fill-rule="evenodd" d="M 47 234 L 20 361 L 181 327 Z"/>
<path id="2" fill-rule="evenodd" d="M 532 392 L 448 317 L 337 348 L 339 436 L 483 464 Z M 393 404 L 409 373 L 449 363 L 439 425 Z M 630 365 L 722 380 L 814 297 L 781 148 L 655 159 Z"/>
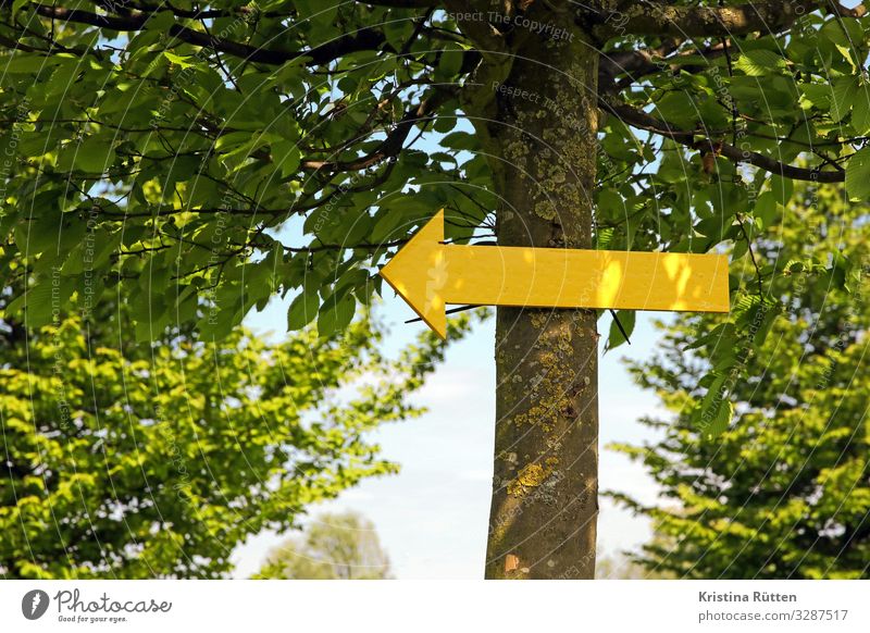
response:
<path id="1" fill-rule="evenodd" d="M 870 433 L 867 278 L 837 289 L 824 263 L 832 251 L 870 264 L 868 207 L 841 188 L 801 187 L 756 253 L 765 268 L 784 259 L 790 274 L 770 290 L 787 307 L 746 358 L 730 406 L 735 421 L 707 442 L 688 408 L 716 356 L 729 345 L 725 319 L 681 318 L 663 326 L 661 353 L 632 371 L 673 419 L 644 419 L 660 439 L 620 446 L 662 489 L 644 506 L 666 538 L 636 560 L 683 578 L 844 579 L 870 576 Z M 688 349 L 694 349 L 687 352 Z M 747 349 L 732 349 L 737 357 Z"/>

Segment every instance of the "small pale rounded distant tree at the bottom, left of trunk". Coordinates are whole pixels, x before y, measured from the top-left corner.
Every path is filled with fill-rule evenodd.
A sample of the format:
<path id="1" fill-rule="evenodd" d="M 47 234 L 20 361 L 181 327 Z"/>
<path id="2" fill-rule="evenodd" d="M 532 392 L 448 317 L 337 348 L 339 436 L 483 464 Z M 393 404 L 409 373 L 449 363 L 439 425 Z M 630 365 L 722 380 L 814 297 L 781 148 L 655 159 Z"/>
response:
<path id="1" fill-rule="evenodd" d="M 383 580 L 391 575 L 374 523 L 345 511 L 319 514 L 306 528 L 304 537 L 275 547 L 254 578 Z"/>

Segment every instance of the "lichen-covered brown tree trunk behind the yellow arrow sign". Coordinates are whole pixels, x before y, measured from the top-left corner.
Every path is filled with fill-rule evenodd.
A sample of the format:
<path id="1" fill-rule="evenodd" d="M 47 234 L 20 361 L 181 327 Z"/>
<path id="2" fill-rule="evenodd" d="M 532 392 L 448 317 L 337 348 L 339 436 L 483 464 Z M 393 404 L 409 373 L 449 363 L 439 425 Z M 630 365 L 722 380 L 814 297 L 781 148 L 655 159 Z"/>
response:
<path id="1" fill-rule="evenodd" d="M 591 248 L 598 55 L 570 14 L 534 17 L 575 35 L 519 34 L 507 78 L 484 86 L 498 244 Z M 488 579 L 594 578 L 597 340 L 594 310 L 498 309 Z"/>

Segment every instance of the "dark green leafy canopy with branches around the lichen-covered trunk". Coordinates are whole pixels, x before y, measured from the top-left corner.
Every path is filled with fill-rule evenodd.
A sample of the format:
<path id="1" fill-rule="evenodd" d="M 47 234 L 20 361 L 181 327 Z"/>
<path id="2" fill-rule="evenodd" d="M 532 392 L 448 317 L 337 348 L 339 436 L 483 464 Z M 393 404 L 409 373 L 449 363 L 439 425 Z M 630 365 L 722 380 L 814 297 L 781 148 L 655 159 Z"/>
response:
<path id="1" fill-rule="evenodd" d="M 494 86 L 524 38 L 554 37 L 524 25 L 566 11 L 566 36 L 601 51 L 582 95 L 601 113 L 598 248 L 730 248 L 738 264 L 758 259 L 793 181 L 870 197 L 863 7 L 5 1 L 0 270 L 27 288 L 9 313 L 45 324 L 52 275 L 80 300 L 92 273 L 98 293 L 128 289 L 139 340 L 179 323 L 220 339 L 288 294 L 290 330 L 343 330 L 437 209 L 450 240 L 492 231 L 502 193 L 472 127 L 509 108 Z M 833 255 L 812 272 L 847 288 L 853 264 Z M 739 345 L 762 344 L 786 263 L 737 266 Z M 620 321 L 610 347 L 632 333 L 633 315 Z M 731 383 L 716 380 L 734 360 L 716 350 L 716 401 L 694 413 L 713 430 L 731 415 Z"/>

